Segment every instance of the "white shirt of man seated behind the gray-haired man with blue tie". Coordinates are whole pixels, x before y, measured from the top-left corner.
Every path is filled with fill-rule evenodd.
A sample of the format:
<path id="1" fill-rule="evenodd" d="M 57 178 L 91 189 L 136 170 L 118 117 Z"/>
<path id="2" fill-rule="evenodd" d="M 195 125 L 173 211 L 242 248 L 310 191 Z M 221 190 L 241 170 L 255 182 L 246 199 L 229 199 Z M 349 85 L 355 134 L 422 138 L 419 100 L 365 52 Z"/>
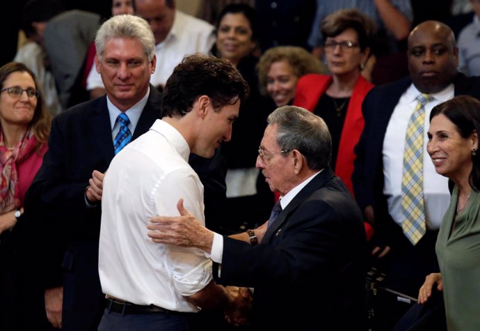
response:
<path id="1" fill-rule="evenodd" d="M 165 40 L 155 45 L 157 66 L 150 77 L 150 83 L 153 86 L 165 85 L 173 69 L 182 62 L 185 55 L 209 54 L 214 43 L 214 26 L 176 10 L 172 29 Z M 87 90 L 98 87 L 104 88 L 104 84 L 95 66 L 92 66 L 87 77 Z"/>

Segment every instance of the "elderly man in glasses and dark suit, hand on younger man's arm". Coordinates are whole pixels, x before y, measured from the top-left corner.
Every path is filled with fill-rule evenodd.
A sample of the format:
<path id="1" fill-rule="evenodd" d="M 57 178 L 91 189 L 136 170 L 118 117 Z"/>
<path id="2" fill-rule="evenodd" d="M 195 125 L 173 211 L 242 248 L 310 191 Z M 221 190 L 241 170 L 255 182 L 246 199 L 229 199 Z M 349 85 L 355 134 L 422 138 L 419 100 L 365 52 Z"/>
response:
<path id="1" fill-rule="evenodd" d="M 364 330 L 365 228 L 329 167 L 330 132 L 295 106 L 267 121 L 257 167 L 280 193 L 281 211 L 277 205 L 269 222 L 229 238 L 202 227 L 179 202 L 183 216 L 154 217 L 149 236 L 203 249 L 218 284 L 254 287 L 258 330 Z"/>

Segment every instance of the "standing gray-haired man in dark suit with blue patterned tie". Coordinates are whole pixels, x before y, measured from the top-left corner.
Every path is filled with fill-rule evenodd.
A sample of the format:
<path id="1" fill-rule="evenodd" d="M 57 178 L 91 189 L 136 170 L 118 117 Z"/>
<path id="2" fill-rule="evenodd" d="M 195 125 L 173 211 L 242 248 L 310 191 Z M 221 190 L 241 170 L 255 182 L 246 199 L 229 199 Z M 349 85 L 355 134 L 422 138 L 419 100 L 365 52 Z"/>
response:
<path id="1" fill-rule="evenodd" d="M 104 310 L 98 275 L 102 180 L 115 153 L 160 117 L 161 95 L 149 84 L 157 59 L 147 22 L 129 15 L 105 23 L 95 43 L 106 95 L 56 116 L 49 151 L 26 198 L 31 223 L 47 236 L 39 246 L 47 316 L 63 330 L 97 330 Z"/>

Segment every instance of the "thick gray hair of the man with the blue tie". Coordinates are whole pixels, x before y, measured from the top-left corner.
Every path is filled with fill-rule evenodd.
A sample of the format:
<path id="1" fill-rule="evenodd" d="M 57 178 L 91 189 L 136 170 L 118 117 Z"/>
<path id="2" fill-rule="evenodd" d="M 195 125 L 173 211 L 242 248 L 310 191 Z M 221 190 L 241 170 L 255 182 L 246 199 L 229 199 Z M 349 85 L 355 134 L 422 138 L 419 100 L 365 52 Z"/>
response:
<path id="1" fill-rule="evenodd" d="M 97 31 L 95 47 L 102 59 L 105 44 L 112 38 L 130 38 L 140 41 L 148 61 L 155 55 L 155 38 L 147 21 L 134 15 L 116 15 L 104 22 Z"/>

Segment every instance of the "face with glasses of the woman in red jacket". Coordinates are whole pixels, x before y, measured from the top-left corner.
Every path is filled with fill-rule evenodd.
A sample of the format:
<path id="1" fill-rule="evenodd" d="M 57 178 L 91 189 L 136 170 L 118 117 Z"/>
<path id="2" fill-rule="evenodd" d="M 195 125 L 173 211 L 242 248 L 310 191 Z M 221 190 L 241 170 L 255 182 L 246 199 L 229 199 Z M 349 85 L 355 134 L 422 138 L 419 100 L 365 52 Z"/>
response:
<path id="1" fill-rule="evenodd" d="M 358 44 L 357 32 L 346 29 L 335 37 L 325 40 L 325 58 L 332 75 L 349 75 L 360 72 L 360 63 L 367 61 L 368 49 L 362 52 Z"/>

